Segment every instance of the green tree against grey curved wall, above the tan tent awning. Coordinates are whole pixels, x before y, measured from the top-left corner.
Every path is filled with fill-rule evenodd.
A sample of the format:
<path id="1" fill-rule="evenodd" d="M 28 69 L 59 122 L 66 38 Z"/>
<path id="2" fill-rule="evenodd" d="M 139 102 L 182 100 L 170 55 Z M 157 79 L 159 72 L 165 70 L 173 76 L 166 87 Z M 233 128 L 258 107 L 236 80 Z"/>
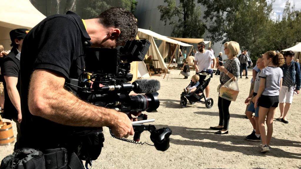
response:
<path id="1" fill-rule="evenodd" d="M 201 10 L 195 0 L 180 0 L 176 5 L 175 0 L 164 0 L 165 5 L 159 5 L 160 20 L 169 21 L 172 25 L 172 36 L 182 38 L 200 38 L 205 33 L 206 25 L 200 19 Z"/>

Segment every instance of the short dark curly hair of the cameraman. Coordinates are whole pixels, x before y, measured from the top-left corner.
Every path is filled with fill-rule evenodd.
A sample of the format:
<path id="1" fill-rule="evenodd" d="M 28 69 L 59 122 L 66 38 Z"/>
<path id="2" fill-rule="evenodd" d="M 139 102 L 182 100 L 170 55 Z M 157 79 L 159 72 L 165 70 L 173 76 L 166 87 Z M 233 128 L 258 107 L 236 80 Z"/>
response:
<path id="1" fill-rule="evenodd" d="M 98 15 L 98 22 L 105 27 L 120 29 L 120 35 L 116 45 L 122 45 L 128 40 L 134 40 L 138 33 L 137 20 L 135 16 L 123 8 L 112 7 Z"/>

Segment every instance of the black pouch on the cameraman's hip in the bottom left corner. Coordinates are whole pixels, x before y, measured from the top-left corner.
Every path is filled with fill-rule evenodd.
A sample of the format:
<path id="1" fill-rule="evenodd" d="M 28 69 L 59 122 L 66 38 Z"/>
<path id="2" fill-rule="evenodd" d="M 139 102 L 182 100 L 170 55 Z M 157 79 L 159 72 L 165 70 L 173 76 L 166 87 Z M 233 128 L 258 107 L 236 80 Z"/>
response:
<path id="1" fill-rule="evenodd" d="M 3 158 L 0 169 L 46 169 L 44 154 L 31 148 L 18 149 Z"/>

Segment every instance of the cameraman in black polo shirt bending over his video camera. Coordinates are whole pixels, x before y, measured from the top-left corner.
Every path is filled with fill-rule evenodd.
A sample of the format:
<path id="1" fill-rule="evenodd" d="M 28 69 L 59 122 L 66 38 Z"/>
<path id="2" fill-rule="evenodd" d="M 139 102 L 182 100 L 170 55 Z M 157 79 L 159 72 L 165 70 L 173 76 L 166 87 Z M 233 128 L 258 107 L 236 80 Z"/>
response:
<path id="1" fill-rule="evenodd" d="M 88 20 L 68 11 L 46 17 L 31 29 L 22 47 L 19 148 L 64 147 L 68 154 L 79 155 L 80 139 L 73 133 L 83 127 L 107 126 L 116 137 L 133 135 L 125 113 L 86 103 L 64 84 L 69 78 L 85 78 L 80 70 L 85 47 L 115 48 L 135 39 L 137 32 L 136 18 L 123 8 L 109 8 Z"/>

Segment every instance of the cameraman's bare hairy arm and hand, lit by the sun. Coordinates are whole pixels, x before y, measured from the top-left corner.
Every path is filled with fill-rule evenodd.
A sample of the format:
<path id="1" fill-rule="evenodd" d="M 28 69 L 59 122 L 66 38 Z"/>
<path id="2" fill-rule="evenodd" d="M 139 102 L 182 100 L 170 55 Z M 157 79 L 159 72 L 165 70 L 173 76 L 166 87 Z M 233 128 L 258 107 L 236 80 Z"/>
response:
<path id="1" fill-rule="evenodd" d="M 64 89 L 65 78 L 38 69 L 32 74 L 28 106 L 31 114 L 71 126 L 111 127 L 117 137 L 133 134 L 125 113 L 86 103 Z"/>

